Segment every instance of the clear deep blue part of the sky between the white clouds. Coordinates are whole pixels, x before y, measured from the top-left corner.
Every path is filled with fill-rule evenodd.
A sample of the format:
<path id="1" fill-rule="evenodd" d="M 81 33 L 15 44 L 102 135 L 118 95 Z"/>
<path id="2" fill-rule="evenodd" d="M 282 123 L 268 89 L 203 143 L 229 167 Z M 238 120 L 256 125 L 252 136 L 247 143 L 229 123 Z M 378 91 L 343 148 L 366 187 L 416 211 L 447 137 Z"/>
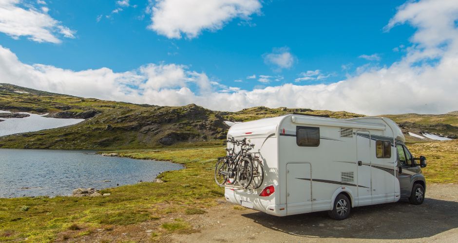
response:
<path id="1" fill-rule="evenodd" d="M 119 7 L 115 1 L 54 0 L 47 2 L 49 14 L 76 30 L 76 38 L 54 44 L 24 37 L 14 40 L 2 34 L 0 43 L 24 63 L 64 69 L 107 67 L 122 72 L 145 63 L 177 63 L 205 72 L 222 84 L 242 80 L 238 85 L 243 88 L 266 85 L 246 79 L 253 74 L 281 75 L 284 79 L 276 82 L 283 84 L 294 81 L 301 72 L 320 69 L 332 75 L 308 83 L 335 82 L 366 63 L 387 65 L 400 59 L 402 52 L 393 52 L 393 48 L 408 43 L 413 28 L 399 26 L 383 32 L 383 27 L 402 3 L 267 1 L 261 13 L 252 15 L 250 24 L 236 18 L 221 30 L 204 30 L 192 39 L 169 39 L 147 29 L 151 23 L 145 16 L 147 1 L 131 0 L 130 7 L 111 14 Z M 103 17 L 97 22 L 100 15 Z M 263 54 L 284 47 L 294 56 L 291 68 L 277 70 L 264 62 Z M 374 53 L 380 56 L 380 61 L 359 58 Z M 350 68 L 343 70 L 342 65 Z"/>

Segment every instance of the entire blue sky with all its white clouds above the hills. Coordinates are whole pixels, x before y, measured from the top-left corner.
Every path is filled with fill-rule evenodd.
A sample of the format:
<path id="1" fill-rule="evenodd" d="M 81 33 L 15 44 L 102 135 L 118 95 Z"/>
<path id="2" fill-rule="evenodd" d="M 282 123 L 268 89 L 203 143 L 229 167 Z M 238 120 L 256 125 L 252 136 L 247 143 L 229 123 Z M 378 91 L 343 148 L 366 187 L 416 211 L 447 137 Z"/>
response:
<path id="1" fill-rule="evenodd" d="M 0 83 L 213 110 L 458 110 L 458 1 L 0 0 Z"/>

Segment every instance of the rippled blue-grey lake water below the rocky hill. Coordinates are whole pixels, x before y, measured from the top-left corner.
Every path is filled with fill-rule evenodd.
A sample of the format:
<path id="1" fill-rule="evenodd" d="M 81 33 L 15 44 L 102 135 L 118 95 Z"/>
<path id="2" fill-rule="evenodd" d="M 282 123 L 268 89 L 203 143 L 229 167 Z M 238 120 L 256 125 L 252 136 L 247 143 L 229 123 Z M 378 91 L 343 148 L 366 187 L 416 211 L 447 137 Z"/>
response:
<path id="1" fill-rule="evenodd" d="M 88 151 L 0 149 L 0 197 L 70 195 L 79 187 L 102 189 L 152 181 L 160 172 L 182 168 L 171 162 Z"/>

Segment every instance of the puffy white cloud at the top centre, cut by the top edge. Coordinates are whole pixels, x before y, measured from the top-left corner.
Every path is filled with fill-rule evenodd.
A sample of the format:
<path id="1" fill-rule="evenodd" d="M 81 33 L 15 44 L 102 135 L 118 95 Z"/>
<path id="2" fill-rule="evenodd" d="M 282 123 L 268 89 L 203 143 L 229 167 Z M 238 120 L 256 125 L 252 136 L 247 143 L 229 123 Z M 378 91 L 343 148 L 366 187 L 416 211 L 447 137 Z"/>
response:
<path id="1" fill-rule="evenodd" d="M 148 28 L 168 38 L 194 38 L 203 30 L 222 29 L 233 18 L 248 20 L 261 7 L 259 0 L 150 0 Z"/>

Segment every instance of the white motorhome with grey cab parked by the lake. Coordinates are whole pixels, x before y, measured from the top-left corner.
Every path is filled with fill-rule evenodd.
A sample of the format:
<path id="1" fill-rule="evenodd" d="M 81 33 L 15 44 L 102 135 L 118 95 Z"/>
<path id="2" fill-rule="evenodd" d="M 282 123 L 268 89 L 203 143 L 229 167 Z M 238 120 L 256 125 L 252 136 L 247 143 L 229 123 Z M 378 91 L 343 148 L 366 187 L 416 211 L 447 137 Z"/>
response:
<path id="1" fill-rule="evenodd" d="M 236 123 L 230 138 L 254 144 L 264 170 L 258 189 L 225 185 L 234 204 L 276 216 L 328 210 L 341 220 L 354 207 L 424 200 L 426 160 L 416 163 L 388 118 L 290 114 Z"/>

